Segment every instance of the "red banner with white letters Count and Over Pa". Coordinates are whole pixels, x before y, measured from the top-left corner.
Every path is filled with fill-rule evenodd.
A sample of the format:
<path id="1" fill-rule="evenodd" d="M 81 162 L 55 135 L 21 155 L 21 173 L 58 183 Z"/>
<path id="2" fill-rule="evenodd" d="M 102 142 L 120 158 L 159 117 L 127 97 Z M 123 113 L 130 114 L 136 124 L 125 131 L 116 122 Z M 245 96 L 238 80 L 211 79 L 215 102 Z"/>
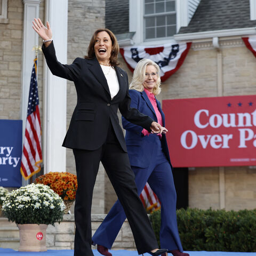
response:
<path id="1" fill-rule="evenodd" d="M 256 165 L 256 95 L 163 100 L 174 167 Z"/>

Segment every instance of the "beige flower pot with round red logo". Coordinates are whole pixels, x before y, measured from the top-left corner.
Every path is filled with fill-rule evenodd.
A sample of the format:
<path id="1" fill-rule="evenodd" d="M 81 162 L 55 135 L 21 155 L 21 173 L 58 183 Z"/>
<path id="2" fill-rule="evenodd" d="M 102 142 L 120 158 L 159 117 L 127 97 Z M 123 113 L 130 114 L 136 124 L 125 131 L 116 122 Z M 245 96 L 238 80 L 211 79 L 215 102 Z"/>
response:
<path id="1" fill-rule="evenodd" d="M 43 252 L 46 249 L 45 224 L 18 224 L 20 231 L 20 252 Z"/>

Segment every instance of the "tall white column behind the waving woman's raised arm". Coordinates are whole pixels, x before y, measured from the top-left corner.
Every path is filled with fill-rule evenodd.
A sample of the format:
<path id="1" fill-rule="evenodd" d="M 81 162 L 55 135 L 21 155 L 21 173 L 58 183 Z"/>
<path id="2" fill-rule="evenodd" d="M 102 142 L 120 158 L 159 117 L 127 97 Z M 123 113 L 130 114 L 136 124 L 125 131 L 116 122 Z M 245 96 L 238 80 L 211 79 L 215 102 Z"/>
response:
<path id="1" fill-rule="evenodd" d="M 67 63 L 68 0 L 45 1 L 45 23 L 50 22 L 58 60 Z M 67 81 L 53 76 L 44 65 L 44 173 L 66 172 Z"/>

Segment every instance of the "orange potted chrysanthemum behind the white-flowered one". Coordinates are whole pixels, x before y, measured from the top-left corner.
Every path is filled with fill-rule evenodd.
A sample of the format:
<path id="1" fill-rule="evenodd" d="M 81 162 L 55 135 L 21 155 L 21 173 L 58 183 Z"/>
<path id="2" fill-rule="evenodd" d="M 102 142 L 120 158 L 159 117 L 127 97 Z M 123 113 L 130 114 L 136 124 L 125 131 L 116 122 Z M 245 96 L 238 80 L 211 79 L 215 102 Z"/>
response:
<path id="1" fill-rule="evenodd" d="M 49 172 L 36 178 L 35 183 L 49 186 L 57 193 L 66 205 L 65 213 L 68 213 L 70 206 L 76 198 L 77 178 L 69 172 Z"/>

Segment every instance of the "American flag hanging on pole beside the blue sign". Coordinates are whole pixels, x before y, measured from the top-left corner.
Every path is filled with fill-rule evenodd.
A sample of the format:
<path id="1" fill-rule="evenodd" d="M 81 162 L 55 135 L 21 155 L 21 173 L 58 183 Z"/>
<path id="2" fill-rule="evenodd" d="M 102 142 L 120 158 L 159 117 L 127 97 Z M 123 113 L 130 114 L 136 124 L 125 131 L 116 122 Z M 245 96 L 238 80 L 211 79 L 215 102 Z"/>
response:
<path id="1" fill-rule="evenodd" d="M 20 172 L 25 180 L 41 170 L 41 122 L 37 87 L 37 58 L 34 59 L 28 97 L 25 138 L 21 157 Z"/>

